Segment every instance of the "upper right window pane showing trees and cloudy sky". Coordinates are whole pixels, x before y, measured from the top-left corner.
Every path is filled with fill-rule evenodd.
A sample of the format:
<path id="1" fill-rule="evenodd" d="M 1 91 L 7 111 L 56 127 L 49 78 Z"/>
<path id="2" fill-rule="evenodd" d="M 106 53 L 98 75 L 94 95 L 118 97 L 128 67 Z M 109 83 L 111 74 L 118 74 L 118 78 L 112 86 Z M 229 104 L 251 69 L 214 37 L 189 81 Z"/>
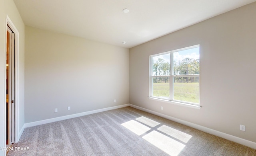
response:
<path id="1" fill-rule="evenodd" d="M 199 74 L 199 47 L 173 53 L 173 74 Z"/>

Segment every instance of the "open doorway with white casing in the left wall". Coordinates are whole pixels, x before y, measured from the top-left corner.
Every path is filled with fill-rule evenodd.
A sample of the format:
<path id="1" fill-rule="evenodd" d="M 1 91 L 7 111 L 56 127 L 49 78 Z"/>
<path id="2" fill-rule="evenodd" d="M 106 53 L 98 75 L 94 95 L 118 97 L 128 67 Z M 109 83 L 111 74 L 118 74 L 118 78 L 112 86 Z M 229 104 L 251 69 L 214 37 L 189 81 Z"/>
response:
<path id="1" fill-rule="evenodd" d="M 19 32 L 6 15 L 6 147 L 18 142 L 19 83 L 18 83 Z M 7 151 L 6 151 L 7 152 Z"/>

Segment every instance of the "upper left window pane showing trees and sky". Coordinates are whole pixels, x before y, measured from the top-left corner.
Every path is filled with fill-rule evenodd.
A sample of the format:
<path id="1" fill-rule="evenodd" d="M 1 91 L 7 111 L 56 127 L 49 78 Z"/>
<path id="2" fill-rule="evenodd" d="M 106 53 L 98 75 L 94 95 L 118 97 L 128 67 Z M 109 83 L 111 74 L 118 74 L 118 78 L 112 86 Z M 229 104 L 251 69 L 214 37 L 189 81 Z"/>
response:
<path id="1" fill-rule="evenodd" d="M 170 53 L 152 57 L 152 76 L 170 75 Z"/>

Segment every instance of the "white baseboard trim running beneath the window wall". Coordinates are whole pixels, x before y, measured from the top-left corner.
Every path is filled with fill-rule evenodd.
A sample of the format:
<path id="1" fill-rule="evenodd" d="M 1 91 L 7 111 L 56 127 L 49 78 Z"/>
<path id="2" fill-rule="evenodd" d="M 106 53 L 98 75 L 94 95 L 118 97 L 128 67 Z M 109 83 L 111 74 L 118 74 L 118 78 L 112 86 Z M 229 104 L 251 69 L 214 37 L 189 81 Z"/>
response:
<path id="1" fill-rule="evenodd" d="M 231 140 L 231 141 L 234 141 L 234 142 L 237 142 L 239 144 L 242 144 L 244 146 L 248 146 L 250 148 L 254 148 L 256 149 L 256 142 L 252 142 L 252 141 L 249 141 L 249 140 L 246 140 L 246 139 L 243 139 L 243 138 L 239 138 L 237 136 L 233 136 L 233 135 L 229 135 L 229 134 L 226 134 L 226 133 L 222 133 L 220 131 L 216 131 L 214 129 L 210 129 L 210 128 L 207 128 L 207 127 L 204 127 L 204 126 L 200 126 L 200 125 L 197 125 L 197 124 L 194 124 L 194 123 L 190 123 L 188 121 L 184 121 L 184 120 L 181 120 L 181 119 L 177 119 L 175 117 L 171 117 L 171 116 L 168 116 L 168 115 L 164 115 L 162 113 L 158 113 L 156 111 L 152 111 L 152 110 L 149 110 L 149 109 L 146 109 L 146 108 L 142 108 L 142 107 L 139 107 L 139 106 L 136 106 L 136 105 L 132 105 L 130 104 L 130 107 L 133 107 L 133 108 L 136 108 L 136 109 L 139 109 L 141 111 L 146 111 L 148 113 L 151 113 L 151 114 L 154 114 L 154 115 L 157 115 L 157 116 L 160 116 L 160 117 L 163 117 L 163 118 L 166 118 L 166 119 L 169 119 L 169 120 L 172 120 L 172 121 L 175 121 L 177 123 L 181 123 L 183 125 L 187 125 L 189 127 L 192 127 L 192 128 L 195 128 L 195 129 L 198 129 L 200 131 L 204 131 L 206 133 L 209 133 L 209 134 L 212 134 L 212 135 L 216 135 L 216 136 L 219 136 L 221 138 L 225 138 L 227 140 Z"/>

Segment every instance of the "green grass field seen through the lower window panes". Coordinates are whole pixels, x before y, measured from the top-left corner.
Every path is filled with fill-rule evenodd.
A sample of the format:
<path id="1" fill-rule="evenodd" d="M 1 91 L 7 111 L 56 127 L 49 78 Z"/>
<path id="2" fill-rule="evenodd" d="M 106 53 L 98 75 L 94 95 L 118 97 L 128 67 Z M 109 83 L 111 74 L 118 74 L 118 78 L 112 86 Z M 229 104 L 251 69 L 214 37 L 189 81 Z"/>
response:
<path id="1" fill-rule="evenodd" d="M 169 83 L 153 83 L 153 96 L 170 97 Z M 199 103 L 199 83 L 174 83 L 174 99 Z"/>

